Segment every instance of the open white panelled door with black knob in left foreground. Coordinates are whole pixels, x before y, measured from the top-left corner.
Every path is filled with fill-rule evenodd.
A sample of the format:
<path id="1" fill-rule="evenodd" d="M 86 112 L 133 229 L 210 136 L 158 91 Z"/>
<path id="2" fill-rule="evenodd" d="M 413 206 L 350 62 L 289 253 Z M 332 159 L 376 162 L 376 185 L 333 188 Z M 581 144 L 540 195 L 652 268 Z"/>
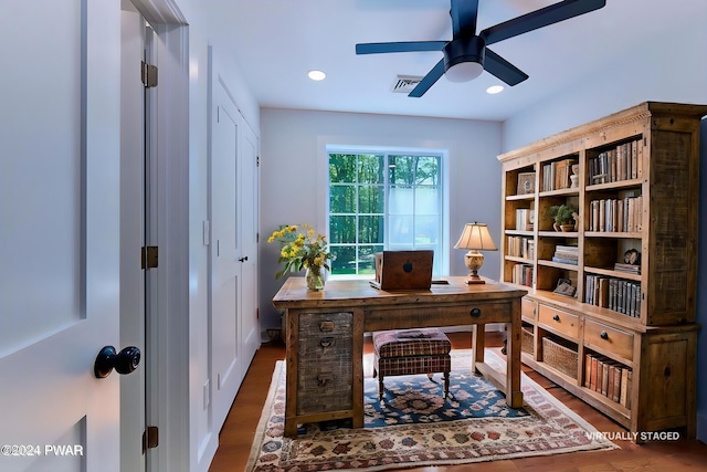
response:
<path id="1" fill-rule="evenodd" d="M 3 0 L 0 470 L 118 471 L 117 6 Z"/>

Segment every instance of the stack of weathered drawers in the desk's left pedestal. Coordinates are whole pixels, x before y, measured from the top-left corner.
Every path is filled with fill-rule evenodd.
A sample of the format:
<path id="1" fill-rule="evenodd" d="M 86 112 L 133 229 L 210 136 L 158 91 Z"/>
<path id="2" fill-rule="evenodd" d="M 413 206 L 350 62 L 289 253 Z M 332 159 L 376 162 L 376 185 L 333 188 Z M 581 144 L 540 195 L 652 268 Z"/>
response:
<path id="1" fill-rule="evenodd" d="M 303 313 L 297 345 L 297 415 L 354 407 L 354 315 Z"/>

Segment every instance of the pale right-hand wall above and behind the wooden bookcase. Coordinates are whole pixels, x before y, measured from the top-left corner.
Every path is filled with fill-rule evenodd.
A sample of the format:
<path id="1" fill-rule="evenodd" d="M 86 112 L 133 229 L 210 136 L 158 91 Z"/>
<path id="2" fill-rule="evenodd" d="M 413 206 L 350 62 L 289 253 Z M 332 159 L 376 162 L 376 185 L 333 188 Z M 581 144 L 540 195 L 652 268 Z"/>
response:
<path id="1" fill-rule="evenodd" d="M 504 123 L 503 149 L 515 149 L 555 133 L 581 125 L 614 112 L 646 101 L 707 104 L 707 29 L 705 15 L 679 31 L 658 33 L 655 42 L 643 44 L 625 61 L 605 71 L 597 71 L 584 81 L 559 91 L 551 99 L 545 99 Z M 668 41 L 669 39 L 669 41 Z M 707 122 L 701 127 L 700 222 L 707 221 Z M 704 233 L 706 227 L 700 224 Z M 704 234 L 698 239 L 699 268 L 707 264 L 707 245 Z M 697 323 L 707 325 L 707 272 L 697 275 Z M 707 442 L 707 370 L 705 327 L 698 338 L 697 370 L 697 437 Z"/>

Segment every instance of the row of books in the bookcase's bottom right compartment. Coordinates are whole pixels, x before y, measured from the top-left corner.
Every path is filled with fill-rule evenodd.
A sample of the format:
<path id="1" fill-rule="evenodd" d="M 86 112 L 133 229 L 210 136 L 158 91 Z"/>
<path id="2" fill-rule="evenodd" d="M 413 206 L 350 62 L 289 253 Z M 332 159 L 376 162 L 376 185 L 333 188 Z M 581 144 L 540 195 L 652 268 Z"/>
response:
<path id="1" fill-rule="evenodd" d="M 633 371 L 621 363 L 588 353 L 584 359 L 584 387 L 616 403 L 631 408 Z"/>

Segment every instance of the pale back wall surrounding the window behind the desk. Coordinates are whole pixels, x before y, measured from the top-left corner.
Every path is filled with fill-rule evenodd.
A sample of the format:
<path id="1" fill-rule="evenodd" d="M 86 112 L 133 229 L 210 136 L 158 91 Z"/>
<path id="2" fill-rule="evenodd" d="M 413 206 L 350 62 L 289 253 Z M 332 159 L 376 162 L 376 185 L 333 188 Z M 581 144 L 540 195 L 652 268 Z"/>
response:
<path id="1" fill-rule="evenodd" d="M 453 248 L 464 223 L 500 228 L 500 124 L 352 113 L 265 108 L 261 112 L 261 325 L 279 327 L 272 306 L 277 248 L 267 237 L 281 224 L 309 223 L 326 231 L 325 146 L 384 146 L 449 151 L 450 234 Z M 498 252 L 487 252 L 482 275 L 498 279 Z M 450 274 L 465 275 L 463 252 L 450 249 Z"/>

